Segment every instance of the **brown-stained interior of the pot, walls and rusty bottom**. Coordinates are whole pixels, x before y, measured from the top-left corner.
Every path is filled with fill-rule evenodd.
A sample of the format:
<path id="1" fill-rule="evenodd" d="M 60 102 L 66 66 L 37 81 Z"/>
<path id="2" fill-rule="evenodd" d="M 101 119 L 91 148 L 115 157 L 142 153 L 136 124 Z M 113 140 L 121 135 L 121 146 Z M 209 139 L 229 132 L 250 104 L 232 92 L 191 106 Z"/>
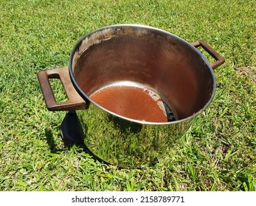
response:
<path id="1" fill-rule="evenodd" d="M 95 30 L 77 43 L 70 62 L 75 86 L 85 98 L 97 104 L 105 99 L 105 107 L 111 103 L 117 107 L 117 103 L 125 108 L 121 113 L 113 111 L 113 107 L 106 109 L 121 116 L 141 110 L 145 114 L 156 113 L 164 122 L 171 110 L 176 120 L 187 118 L 210 102 L 215 88 L 209 64 L 193 46 L 150 27 L 110 26 Z M 152 101 L 153 106 L 146 106 Z M 139 120 L 156 121 L 156 117 Z"/>

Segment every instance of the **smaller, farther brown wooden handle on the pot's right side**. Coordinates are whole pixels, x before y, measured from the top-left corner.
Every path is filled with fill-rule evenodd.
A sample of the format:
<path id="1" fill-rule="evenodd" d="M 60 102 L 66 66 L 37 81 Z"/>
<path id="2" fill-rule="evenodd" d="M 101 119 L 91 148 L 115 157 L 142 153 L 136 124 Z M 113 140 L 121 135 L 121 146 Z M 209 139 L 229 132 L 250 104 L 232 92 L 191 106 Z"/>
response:
<path id="1" fill-rule="evenodd" d="M 221 57 L 221 55 L 218 54 L 217 51 L 212 49 L 212 47 L 210 47 L 207 43 L 205 43 L 204 40 L 198 40 L 191 44 L 196 48 L 198 46 L 201 46 L 205 51 L 207 51 L 208 54 L 210 54 L 215 59 L 215 62 L 210 64 L 212 68 L 217 68 L 225 62 L 224 57 Z"/>

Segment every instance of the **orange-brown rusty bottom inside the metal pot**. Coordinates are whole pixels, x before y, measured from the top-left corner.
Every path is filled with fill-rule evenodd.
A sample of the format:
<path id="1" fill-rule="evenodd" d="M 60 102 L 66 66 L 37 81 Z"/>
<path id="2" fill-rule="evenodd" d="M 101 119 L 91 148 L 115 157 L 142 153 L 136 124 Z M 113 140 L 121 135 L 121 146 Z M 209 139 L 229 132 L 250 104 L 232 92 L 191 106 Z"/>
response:
<path id="1" fill-rule="evenodd" d="M 145 88 L 108 86 L 92 93 L 90 98 L 120 116 L 139 121 L 167 122 L 162 99 Z"/>

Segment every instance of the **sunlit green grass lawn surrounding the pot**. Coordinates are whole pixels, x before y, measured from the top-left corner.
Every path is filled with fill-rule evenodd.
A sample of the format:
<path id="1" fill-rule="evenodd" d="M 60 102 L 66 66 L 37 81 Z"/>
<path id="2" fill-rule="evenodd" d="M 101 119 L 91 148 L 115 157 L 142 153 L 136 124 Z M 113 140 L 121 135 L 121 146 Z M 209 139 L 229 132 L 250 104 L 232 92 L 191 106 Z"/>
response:
<path id="1" fill-rule="evenodd" d="M 0 191 L 256 191 L 255 1 L 2 0 L 0 8 Z M 64 146 L 66 112 L 46 110 L 36 77 L 68 65 L 86 33 L 125 23 L 205 40 L 226 60 L 210 107 L 151 168 L 106 166 Z"/>

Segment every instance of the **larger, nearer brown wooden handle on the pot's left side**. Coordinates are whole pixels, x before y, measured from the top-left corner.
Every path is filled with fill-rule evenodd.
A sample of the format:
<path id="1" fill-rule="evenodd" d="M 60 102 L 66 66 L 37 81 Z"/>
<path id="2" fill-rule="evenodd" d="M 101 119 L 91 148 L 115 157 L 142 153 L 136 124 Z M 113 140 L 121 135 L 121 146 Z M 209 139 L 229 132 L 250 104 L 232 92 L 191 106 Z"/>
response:
<path id="1" fill-rule="evenodd" d="M 49 79 L 60 79 L 66 92 L 66 96 L 68 97 L 68 101 L 56 102 Z M 86 108 L 85 100 L 77 93 L 77 90 L 75 90 L 74 86 L 72 85 L 69 77 L 69 68 L 67 66 L 53 68 L 46 71 L 39 71 L 38 80 L 48 110 L 83 110 Z"/>

